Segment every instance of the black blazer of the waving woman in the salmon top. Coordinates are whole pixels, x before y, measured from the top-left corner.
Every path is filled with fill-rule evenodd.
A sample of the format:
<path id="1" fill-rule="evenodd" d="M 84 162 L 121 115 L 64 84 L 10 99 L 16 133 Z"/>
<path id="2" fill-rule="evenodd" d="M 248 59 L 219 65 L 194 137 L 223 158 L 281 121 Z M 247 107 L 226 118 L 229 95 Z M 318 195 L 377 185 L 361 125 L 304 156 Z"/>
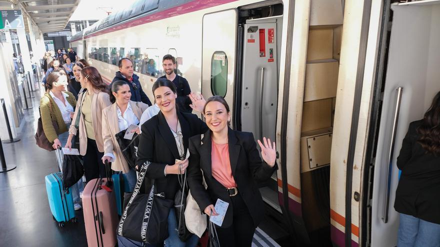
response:
<path id="1" fill-rule="evenodd" d="M 256 181 L 267 180 L 278 168 L 276 164 L 269 167 L 261 161 L 252 133 L 228 129 L 227 138 L 232 176 L 256 228 L 264 217 L 264 204 Z M 202 212 L 208 205 L 215 205 L 218 198 L 229 203 L 221 228 L 231 226 L 233 209 L 229 194 L 226 188 L 212 177 L 211 131 L 204 133 L 201 142 L 200 135 L 189 138 L 188 150 L 190 156 L 186 176 L 192 197 Z M 200 169 L 203 171 L 207 189 L 202 185 Z"/>

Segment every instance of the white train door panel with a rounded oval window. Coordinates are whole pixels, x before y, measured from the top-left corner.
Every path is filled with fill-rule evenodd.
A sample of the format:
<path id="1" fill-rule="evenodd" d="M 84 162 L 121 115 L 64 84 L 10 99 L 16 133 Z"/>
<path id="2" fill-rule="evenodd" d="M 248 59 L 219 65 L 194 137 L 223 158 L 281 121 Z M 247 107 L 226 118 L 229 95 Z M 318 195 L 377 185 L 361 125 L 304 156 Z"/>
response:
<path id="1" fill-rule="evenodd" d="M 203 15 L 201 93 L 206 99 L 220 95 L 229 106 L 233 106 L 236 30 L 236 9 Z"/>

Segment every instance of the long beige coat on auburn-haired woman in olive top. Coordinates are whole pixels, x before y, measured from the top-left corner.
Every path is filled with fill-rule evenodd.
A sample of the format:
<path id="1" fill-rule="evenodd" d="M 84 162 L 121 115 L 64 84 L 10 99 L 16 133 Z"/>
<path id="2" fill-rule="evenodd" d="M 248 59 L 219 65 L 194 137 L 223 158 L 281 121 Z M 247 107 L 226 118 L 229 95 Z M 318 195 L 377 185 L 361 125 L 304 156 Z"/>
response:
<path id="1" fill-rule="evenodd" d="M 85 92 L 87 93 L 87 92 Z M 69 128 L 69 133 L 76 135 L 77 129 L 75 128 L 76 115 L 79 112 L 79 106 L 82 102 L 82 95 L 78 97 L 76 102 L 75 114 L 72 118 L 72 124 Z M 107 106 L 111 105 L 110 97 L 108 93 L 95 91 L 93 98 L 91 99 L 91 123 L 93 125 L 93 133 L 96 140 L 96 146 L 99 152 L 104 152 L 104 142 L 102 140 L 102 110 Z M 79 154 L 85 155 L 87 151 L 87 133 L 85 132 L 84 115 L 79 117 Z"/>

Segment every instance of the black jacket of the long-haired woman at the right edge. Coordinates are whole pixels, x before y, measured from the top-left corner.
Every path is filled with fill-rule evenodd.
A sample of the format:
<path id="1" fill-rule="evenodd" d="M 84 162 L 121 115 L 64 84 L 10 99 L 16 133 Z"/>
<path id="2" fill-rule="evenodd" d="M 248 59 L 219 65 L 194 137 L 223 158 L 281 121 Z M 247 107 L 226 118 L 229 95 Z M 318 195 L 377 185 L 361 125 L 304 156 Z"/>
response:
<path id="1" fill-rule="evenodd" d="M 422 120 L 409 124 L 397 167 L 402 170 L 395 192 L 394 209 L 402 214 L 440 224 L 440 157 L 427 154 L 417 143 L 416 129 Z"/>

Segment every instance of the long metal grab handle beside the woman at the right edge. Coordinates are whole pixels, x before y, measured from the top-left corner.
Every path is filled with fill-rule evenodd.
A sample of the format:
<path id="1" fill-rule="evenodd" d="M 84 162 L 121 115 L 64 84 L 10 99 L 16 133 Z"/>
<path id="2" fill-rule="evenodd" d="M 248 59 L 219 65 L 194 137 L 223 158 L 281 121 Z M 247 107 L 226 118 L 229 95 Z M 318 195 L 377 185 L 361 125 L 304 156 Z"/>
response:
<path id="1" fill-rule="evenodd" d="M 397 131 L 398 116 L 400 112 L 400 102 L 402 99 L 402 90 L 403 87 L 397 87 L 396 89 L 397 99 L 395 103 L 394 120 L 392 121 L 391 142 L 389 144 L 389 153 L 388 153 L 388 168 L 386 170 L 386 180 L 385 180 L 386 188 L 385 188 L 385 203 L 383 205 L 383 215 L 382 215 L 383 223 L 388 222 L 389 191 L 391 189 L 392 157 L 394 154 L 395 133 Z"/>

